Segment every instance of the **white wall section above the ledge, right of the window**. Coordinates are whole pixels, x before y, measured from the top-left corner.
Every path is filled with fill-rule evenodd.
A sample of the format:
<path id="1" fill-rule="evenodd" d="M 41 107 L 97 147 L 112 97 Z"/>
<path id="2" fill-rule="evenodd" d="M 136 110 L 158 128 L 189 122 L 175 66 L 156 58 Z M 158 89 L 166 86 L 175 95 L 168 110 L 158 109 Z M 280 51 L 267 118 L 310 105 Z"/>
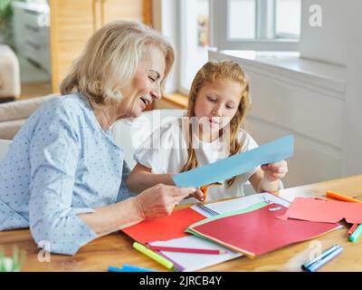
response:
<path id="1" fill-rule="evenodd" d="M 347 65 L 348 11 L 353 1 L 302 0 L 300 56 L 326 63 Z M 320 5 L 322 26 L 310 26 L 310 6 Z"/>

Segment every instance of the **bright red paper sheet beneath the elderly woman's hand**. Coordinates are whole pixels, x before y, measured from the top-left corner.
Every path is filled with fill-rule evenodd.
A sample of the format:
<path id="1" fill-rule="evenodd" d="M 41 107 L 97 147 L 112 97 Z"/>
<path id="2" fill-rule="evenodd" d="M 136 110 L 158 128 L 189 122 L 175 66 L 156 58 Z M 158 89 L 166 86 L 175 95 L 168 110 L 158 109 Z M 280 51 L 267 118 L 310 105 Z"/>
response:
<path id="1" fill-rule="evenodd" d="M 205 217 L 192 208 L 174 211 L 165 218 L 145 220 L 137 225 L 121 229 L 124 233 L 142 244 L 154 241 L 164 241 L 176 237 L 186 237 L 186 227 Z"/>

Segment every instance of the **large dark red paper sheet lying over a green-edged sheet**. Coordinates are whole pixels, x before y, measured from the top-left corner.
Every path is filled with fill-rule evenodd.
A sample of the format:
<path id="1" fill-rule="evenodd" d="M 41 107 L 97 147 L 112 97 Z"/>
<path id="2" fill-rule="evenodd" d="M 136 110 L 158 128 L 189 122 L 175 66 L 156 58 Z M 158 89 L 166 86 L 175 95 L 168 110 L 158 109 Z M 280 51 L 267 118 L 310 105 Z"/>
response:
<path id="1" fill-rule="evenodd" d="M 196 233 L 231 247 L 246 256 L 262 255 L 280 247 L 318 237 L 338 227 L 338 224 L 315 223 L 304 220 L 281 220 L 287 208 L 270 211 L 269 205 L 244 214 L 219 218 L 192 227 Z"/>

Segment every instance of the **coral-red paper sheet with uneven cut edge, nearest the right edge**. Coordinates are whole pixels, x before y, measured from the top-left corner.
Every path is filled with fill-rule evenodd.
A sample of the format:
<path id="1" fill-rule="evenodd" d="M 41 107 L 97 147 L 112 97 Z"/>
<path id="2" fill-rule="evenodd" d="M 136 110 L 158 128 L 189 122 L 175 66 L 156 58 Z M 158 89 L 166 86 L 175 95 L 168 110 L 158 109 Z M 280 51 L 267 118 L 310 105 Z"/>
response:
<path id="1" fill-rule="evenodd" d="M 324 223 L 337 223 L 345 218 L 350 224 L 362 223 L 362 203 L 319 198 L 295 198 L 281 219 L 295 218 Z"/>

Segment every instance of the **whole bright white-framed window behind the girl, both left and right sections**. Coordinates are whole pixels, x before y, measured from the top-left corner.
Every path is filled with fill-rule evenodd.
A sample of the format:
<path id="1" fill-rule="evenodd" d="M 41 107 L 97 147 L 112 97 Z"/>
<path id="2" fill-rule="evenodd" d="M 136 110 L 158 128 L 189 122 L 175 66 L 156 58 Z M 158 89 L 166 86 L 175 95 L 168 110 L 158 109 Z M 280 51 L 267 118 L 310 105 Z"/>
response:
<path id="1" fill-rule="evenodd" d="M 209 46 L 298 51 L 300 1 L 176 0 L 181 35 L 178 91 L 188 92 L 195 73 L 207 62 Z"/>

